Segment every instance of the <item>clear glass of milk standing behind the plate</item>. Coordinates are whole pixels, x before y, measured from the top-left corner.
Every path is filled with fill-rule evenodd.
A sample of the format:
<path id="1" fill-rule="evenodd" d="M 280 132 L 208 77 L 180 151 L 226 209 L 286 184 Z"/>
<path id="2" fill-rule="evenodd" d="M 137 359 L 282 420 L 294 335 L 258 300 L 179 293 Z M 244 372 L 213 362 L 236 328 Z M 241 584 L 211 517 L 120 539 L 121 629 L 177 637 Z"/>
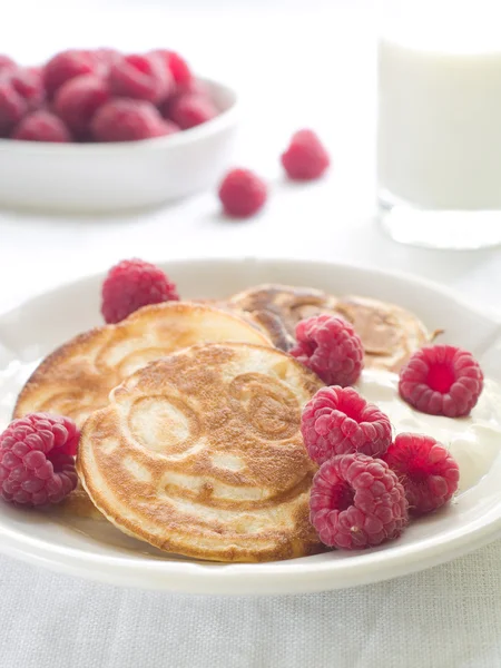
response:
<path id="1" fill-rule="evenodd" d="M 377 48 L 382 225 L 421 246 L 501 244 L 500 6 L 402 4 Z"/>

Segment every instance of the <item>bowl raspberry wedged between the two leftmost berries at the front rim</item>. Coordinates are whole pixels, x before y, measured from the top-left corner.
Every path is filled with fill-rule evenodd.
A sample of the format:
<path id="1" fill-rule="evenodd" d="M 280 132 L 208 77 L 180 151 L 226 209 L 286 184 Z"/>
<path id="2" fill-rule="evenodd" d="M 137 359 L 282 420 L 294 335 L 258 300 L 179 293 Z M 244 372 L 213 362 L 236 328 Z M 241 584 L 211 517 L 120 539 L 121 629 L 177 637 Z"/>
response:
<path id="1" fill-rule="evenodd" d="M 77 135 L 90 129 L 96 111 L 109 99 L 108 85 L 96 75 L 81 75 L 63 84 L 56 92 L 53 108 Z"/>

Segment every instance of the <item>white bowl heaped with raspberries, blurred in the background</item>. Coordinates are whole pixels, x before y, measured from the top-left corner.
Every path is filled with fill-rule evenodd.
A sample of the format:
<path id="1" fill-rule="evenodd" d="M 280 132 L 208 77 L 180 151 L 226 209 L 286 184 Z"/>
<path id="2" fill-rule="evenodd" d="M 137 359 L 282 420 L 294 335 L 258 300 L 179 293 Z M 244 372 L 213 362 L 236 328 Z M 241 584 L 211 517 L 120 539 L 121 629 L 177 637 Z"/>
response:
<path id="1" fill-rule="evenodd" d="M 236 102 L 167 49 L 68 49 L 33 67 L 0 55 L 0 206 L 102 213 L 210 187 Z"/>

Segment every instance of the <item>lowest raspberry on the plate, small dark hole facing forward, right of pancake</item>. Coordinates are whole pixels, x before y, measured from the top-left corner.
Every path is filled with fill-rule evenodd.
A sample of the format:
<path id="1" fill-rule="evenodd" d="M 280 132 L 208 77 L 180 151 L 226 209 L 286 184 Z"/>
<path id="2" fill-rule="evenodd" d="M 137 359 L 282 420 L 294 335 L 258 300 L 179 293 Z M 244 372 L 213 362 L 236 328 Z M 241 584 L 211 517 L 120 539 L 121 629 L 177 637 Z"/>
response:
<path id="1" fill-rule="evenodd" d="M 382 460 L 341 454 L 315 473 L 310 520 L 321 541 L 360 550 L 397 538 L 409 522 L 404 489 Z"/>

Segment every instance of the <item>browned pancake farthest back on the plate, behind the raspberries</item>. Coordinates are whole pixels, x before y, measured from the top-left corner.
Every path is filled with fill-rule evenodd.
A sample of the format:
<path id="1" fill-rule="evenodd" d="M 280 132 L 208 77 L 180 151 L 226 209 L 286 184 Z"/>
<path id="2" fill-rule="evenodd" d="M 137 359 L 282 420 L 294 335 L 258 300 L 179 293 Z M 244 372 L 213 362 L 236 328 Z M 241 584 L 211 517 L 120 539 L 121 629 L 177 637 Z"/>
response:
<path id="1" fill-rule="evenodd" d="M 369 297 L 336 297 L 310 287 L 265 284 L 234 295 L 228 305 L 252 314 L 283 351 L 295 344 L 295 326 L 301 320 L 318 313 L 341 315 L 361 337 L 369 369 L 397 372 L 414 351 L 431 340 L 415 315 Z"/>

